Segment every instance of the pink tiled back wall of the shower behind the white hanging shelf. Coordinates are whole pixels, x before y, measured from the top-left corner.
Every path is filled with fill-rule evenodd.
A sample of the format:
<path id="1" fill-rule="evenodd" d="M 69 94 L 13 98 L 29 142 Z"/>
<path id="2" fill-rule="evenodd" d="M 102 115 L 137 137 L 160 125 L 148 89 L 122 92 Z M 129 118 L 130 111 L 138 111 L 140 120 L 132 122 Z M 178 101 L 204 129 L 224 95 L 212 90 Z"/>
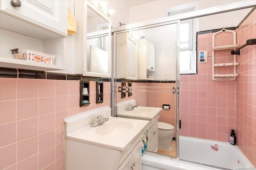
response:
<path id="1" fill-rule="evenodd" d="M 208 51 L 207 63 L 198 63 L 198 74 L 180 75 L 180 135 L 229 141 L 230 129 L 235 127 L 236 83 L 212 80 L 212 34 L 198 35 L 198 51 Z M 230 45 L 232 36 L 218 34 L 215 43 Z M 214 63 L 232 62 L 230 50 L 217 51 L 214 56 Z M 229 70 L 232 67 L 223 67 L 215 74 Z"/>

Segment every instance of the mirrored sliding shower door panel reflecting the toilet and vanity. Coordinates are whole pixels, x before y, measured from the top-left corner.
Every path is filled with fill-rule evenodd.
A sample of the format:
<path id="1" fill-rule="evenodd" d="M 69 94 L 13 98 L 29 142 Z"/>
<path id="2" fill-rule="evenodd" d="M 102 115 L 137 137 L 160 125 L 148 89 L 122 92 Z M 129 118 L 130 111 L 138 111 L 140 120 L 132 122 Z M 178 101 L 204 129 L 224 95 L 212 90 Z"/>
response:
<path id="1" fill-rule="evenodd" d="M 122 98 L 121 93 L 116 94 L 117 116 L 150 121 L 144 141 L 147 151 L 174 157 L 176 95 L 172 87 L 176 86 L 177 25 L 172 22 L 116 33 L 116 77 L 126 86 L 133 80 L 132 96 Z M 134 43 L 129 44 L 127 39 Z M 131 48 L 135 44 L 136 48 Z M 129 57 L 124 52 L 128 49 L 132 51 Z M 137 78 L 120 76 L 122 70 L 134 76 L 136 69 Z M 121 86 L 121 82 L 116 84 Z"/>

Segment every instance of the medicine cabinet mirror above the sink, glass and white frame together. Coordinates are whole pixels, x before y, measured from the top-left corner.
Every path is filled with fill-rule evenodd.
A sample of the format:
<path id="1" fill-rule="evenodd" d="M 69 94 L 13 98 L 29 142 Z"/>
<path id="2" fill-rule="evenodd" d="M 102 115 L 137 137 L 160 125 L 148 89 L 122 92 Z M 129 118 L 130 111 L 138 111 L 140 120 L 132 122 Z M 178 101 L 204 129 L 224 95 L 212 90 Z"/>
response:
<path id="1" fill-rule="evenodd" d="M 111 22 L 101 10 L 87 2 L 87 42 L 83 75 L 111 77 Z"/>

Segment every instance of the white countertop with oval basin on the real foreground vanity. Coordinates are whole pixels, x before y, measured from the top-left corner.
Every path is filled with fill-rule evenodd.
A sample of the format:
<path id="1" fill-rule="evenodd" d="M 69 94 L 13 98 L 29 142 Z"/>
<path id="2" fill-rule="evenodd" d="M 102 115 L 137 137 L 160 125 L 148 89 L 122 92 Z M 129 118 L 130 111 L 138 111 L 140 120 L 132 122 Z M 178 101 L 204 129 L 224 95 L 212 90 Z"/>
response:
<path id="1" fill-rule="evenodd" d="M 97 127 L 87 125 L 78 131 L 67 134 L 67 139 L 80 141 L 101 147 L 125 150 L 130 143 L 142 137 L 148 121 L 109 117 L 109 120 Z"/>

